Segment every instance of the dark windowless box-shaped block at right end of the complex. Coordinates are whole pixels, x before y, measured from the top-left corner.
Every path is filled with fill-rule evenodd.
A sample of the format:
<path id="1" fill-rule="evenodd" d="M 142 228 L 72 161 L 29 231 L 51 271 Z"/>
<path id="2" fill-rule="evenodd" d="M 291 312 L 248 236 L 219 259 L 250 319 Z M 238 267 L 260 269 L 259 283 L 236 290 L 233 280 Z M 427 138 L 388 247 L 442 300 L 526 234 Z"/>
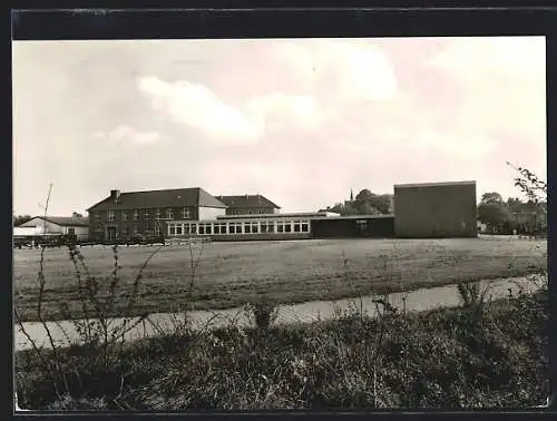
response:
<path id="1" fill-rule="evenodd" d="M 394 186 L 400 238 L 476 237 L 476 184 Z"/>

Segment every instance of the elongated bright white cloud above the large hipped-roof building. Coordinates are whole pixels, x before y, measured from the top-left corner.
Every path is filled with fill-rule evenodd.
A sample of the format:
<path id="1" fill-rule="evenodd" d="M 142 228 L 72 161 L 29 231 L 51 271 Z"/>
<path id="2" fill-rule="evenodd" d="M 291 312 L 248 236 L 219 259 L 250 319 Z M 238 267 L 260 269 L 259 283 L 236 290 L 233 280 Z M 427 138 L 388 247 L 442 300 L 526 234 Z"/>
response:
<path id="1" fill-rule="evenodd" d="M 175 123 L 225 144 L 251 144 L 271 129 L 312 128 L 319 121 L 316 106 L 307 96 L 262 95 L 233 106 L 202 84 L 168 82 L 153 76 L 139 78 L 138 89 L 152 99 L 154 109 L 168 112 Z"/>

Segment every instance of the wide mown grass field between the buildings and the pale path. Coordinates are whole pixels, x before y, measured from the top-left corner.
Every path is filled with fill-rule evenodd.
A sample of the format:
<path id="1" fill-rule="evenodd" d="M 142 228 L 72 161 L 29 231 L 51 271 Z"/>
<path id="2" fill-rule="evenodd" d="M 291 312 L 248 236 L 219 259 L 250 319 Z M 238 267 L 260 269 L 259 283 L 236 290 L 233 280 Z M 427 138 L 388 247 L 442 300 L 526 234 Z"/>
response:
<path id="1" fill-rule="evenodd" d="M 120 247 L 121 293 L 129 290 L 154 247 Z M 188 305 L 195 281 L 196 310 L 224 309 L 268 297 L 276 303 L 333 300 L 408 291 L 458 281 L 518 276 L 546 268 L 546 241 L 510 239 L 326 239 L 213 243 L 163 247 L 147 265 L 133 314 L 116 303 L 114 316 L 175 311 Z M 81 253 L 95 276 L 114 268 L 110 247 Z M 199 256 L 199 257 L 197 257 Z M 40 252 L 14 251 L 14 305 L 26 321 L 37 320 Z M 192 276 L 192 261 L 197 263 Z M 74 266 L 67 249 L 45 253 L 43 316 L 61 319 L 60 304 L 79 315 Z"/>

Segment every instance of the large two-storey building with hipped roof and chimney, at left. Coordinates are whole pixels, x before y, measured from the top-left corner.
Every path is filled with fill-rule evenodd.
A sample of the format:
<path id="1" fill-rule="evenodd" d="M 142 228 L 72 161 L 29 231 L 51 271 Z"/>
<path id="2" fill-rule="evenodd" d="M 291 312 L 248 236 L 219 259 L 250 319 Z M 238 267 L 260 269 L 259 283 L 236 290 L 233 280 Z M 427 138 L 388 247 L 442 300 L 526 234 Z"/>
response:
<path id="1" fill-rule="evenodd" d="M 166 190 L 110 190 L 110 195 L 87 209 L 89 234 L 95 242 L 158 238 L 168 221 L 215 219 L 226 205 L 201 187 Z"/>

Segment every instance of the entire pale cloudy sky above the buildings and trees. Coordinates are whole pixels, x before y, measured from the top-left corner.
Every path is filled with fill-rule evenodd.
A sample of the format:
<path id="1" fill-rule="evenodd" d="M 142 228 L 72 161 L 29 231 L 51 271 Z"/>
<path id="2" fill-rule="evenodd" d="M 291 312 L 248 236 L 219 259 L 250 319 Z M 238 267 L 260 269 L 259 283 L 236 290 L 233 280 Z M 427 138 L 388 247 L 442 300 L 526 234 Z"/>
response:
<path id="1" fill-rule="evenodd" d="M 546 178 L 544 37 L 14 41 L 13 212 L 203 187 L 312 212 L 362 188 Z"/>

